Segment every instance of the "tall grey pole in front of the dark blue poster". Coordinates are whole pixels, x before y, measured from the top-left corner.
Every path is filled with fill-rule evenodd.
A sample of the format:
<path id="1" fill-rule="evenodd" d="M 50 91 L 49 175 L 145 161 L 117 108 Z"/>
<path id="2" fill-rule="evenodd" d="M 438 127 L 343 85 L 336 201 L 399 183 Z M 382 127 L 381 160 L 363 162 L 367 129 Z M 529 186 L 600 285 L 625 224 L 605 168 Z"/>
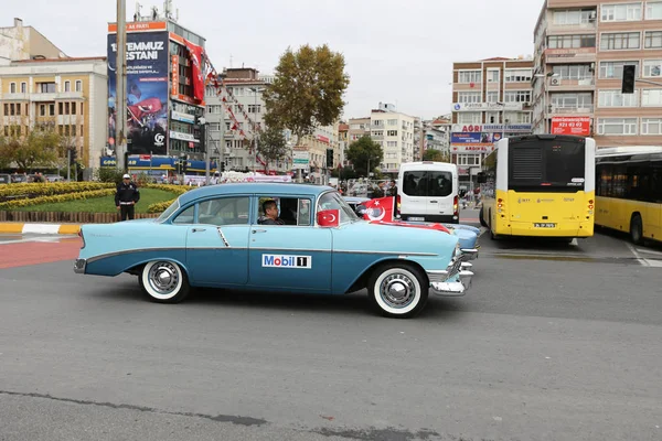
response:
<path id="1" fill-rule="evenodd" d="M 117 168 L 127 170 L 127 2 L 117 0 L 117 63 L 116 63 L 116 100 L 115 125 L 117 136 L 115 152 Z"/>

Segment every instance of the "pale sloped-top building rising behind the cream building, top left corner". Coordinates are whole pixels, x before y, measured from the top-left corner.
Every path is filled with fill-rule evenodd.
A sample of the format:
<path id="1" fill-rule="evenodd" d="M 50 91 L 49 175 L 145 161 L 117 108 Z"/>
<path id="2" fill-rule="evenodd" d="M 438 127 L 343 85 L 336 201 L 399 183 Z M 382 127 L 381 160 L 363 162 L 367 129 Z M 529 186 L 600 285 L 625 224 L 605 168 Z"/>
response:
<path id="1" fill-rule="evenodd" d="M 49 39 L 23 20 L 14 19 L 13 26 L 0 28 L 0 66 L 11 62 L 33 58 L 66 58 L 66 55 Z"/>

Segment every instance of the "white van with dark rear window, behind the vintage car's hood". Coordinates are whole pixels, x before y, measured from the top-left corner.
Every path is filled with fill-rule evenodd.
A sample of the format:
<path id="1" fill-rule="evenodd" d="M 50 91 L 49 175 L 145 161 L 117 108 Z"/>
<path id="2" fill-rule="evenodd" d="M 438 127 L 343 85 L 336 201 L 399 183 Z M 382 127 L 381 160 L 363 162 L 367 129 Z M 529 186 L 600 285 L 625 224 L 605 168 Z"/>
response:
<path id="1" fill-rule="evenodd" d="M 446 162 L 406 162 L 397 175 L 403 220 L 459 224 L 458 166 Z"/>

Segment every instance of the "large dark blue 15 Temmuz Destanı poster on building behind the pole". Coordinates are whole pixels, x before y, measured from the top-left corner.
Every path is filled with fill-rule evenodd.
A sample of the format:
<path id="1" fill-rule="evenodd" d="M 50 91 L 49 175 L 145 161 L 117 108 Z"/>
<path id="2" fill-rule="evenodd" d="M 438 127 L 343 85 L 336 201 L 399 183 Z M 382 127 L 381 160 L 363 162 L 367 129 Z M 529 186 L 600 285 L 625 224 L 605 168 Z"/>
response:
<path id="1" fill-rule="evenodd" d="M 108 144 L 116 143 L 117 34 L 108 34 Z M 127 33 L 127 150 L 167 154 L 168 32 Z"/>

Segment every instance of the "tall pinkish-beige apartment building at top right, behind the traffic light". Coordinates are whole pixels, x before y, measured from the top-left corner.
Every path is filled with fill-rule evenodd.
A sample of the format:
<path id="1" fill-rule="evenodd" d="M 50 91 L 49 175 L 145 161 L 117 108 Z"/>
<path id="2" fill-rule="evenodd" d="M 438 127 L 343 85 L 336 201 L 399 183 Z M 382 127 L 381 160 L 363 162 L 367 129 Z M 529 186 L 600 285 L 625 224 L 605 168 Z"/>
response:
<path id="1" fill-rule="evenodd" d="M 536 133 L 662 144 L 662 1 L 547 0 L 534 42 Z M 637 66 L 631 95 L 623 65 Z"/>

